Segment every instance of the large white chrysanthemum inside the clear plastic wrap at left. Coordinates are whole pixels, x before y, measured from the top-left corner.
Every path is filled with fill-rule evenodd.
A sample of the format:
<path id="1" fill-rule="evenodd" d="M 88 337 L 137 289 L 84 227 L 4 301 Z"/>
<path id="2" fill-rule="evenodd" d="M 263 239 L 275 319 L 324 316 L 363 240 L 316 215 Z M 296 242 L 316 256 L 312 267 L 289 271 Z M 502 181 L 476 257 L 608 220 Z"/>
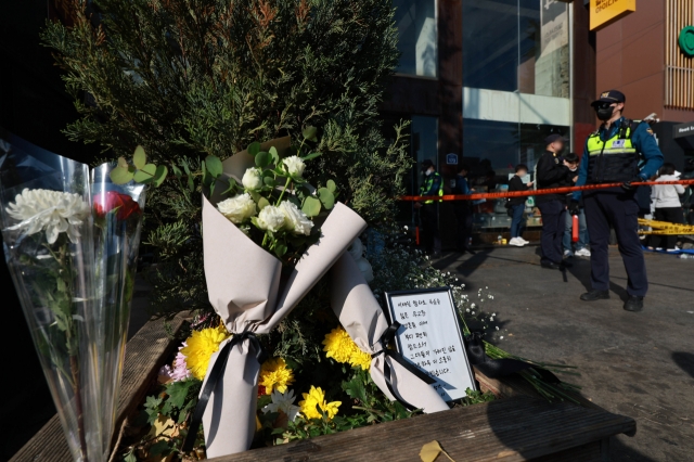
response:
<path id="1" fill-rule="evenodd" d="M 72 242 L 79 240 L 79 227 L 89 215 L 89 204 L 79 194 L 25 189 L 8 206 L 8 214 L 20 220 L 13 229 L 26 228 L 27 234 L 46 230 L 49 244 L 62 232 Z"/>

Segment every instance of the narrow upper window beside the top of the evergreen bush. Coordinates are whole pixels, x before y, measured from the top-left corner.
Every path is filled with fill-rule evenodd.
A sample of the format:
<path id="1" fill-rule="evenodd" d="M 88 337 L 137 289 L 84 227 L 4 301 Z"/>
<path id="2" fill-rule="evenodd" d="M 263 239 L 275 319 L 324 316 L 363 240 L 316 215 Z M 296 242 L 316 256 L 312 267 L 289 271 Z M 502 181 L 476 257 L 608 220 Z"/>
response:
<path id="1" fill-rule="evenodd" d="M 394 0 L 393 3 L 398 49 L 402 53 L 397 72 L 437 77 L 436 0 Z"/>

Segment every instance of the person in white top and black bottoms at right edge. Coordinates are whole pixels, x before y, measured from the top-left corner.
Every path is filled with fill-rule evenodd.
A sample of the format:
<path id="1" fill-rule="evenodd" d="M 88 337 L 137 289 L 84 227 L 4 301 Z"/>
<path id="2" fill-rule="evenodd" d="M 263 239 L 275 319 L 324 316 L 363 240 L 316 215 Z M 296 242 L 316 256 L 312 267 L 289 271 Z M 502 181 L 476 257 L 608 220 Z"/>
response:
<path id="1" fill-rule="evenodd" d="M 680 172 L 674 169 L 674 164 L 665 163 L 658 171 L 656 182 L 677 181 L 680 179 Z M 684 194 L 685 187 L 682 184 L 655 184 L 653 187 L 652 196 L 655 202 L 655 220 L 667 221 L 670 223 L 681 224 L 684 219 L 684 211 L 680 203 L 680 195 Z M 689 188 L 689 184 L 686 185 Z M 661 243 L 665 242 L 665 245 Z M 651 236 L 651 245 L 656 251 L 665 248 L 667 252 L 679 251 L 677 247 L 677 235 L 657 235 Z"/>

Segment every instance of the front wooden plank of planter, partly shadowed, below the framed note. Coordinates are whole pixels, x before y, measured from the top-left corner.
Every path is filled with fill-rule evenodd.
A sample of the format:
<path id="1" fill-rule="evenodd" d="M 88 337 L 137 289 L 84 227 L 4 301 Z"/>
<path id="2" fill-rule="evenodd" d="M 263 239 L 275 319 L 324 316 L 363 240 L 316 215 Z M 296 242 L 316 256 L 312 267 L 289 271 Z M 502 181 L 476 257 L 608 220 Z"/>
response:
<path id="1" fill-rule="evenodd" d="M 635 422 L 627 416 L 517 396 L 210 459 L 210 462 L 419 461 L 422 446 L 433 439 L 460 461 L 538 458 L 549 461 L 556 460 L 550 455 L 561 451 L 568 454 L 573 449 L 586 457 L 589 452 L 600 457 L 604 438 L 634 428 Z"/>

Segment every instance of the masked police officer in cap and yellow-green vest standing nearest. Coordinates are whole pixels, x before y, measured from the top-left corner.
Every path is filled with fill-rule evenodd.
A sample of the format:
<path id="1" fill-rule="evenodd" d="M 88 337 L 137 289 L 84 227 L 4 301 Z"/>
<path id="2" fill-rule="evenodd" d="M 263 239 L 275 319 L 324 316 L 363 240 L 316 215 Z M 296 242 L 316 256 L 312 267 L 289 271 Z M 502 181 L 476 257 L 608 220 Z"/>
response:
<path id="1" fill-rule="evenodd" d="M 631 183 L 653 177 L 663 165 L 663 154 L 646 123 L 622 116 L 626 101 L 624 93 L 611 90 L 592 103 L 603 124 L 586 141 L 577 185 L 621 182 L 621 187 L 582 194 L 590 234 L 592 290 L 581 295 L 581 300 L 609 298 L 607 245 L 612 226 L 628 275 L 629 298 L 624 308 L 641 311 L 648 280 L 638 233 L 639 204 Z M 578 208 L 580 197 L 580 192 L 574 193 L 571 213 Z"/>

